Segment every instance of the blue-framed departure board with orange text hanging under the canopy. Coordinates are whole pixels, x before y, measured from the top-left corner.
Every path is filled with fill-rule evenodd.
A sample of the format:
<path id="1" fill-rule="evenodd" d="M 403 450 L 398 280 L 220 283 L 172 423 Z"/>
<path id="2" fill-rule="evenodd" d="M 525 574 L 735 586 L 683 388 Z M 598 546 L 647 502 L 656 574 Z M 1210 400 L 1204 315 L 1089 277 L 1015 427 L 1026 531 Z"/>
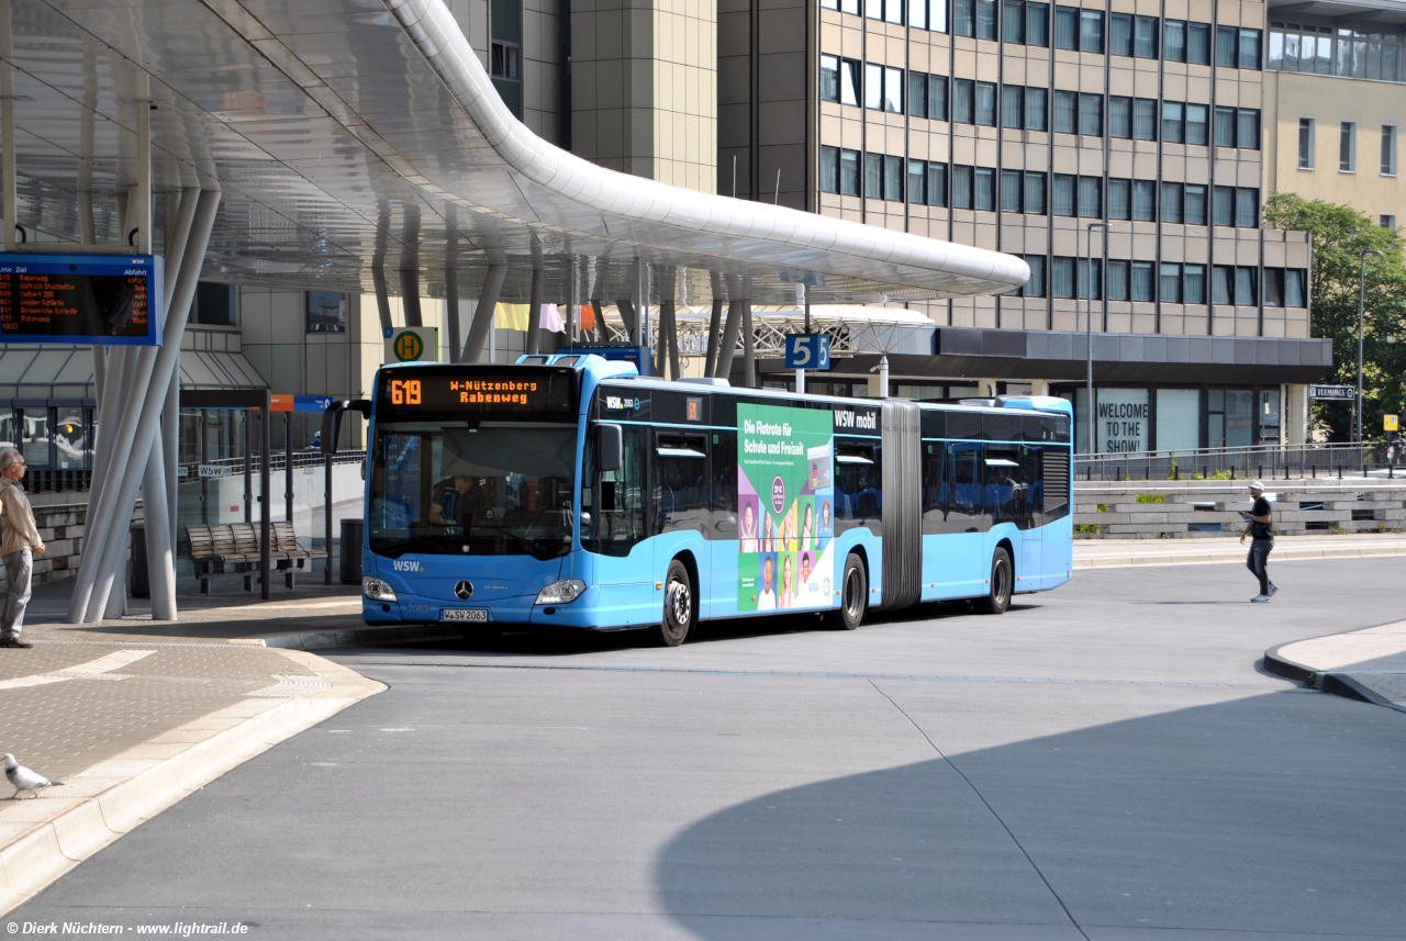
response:
<path id="1" fill-rule="evenodd" d="M 0 343 L 160 346 L 162 258 L 0 253 Z"/>

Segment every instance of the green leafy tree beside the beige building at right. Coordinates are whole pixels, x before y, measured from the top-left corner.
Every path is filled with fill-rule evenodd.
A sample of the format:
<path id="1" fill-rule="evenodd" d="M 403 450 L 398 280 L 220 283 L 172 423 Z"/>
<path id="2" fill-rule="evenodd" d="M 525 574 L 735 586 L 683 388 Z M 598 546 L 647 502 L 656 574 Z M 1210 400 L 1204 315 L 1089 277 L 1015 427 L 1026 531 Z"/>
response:
<path id="1" fill-rule="evenodd" d="M 1310 334 L 1333 340 L 1330 382 L 1357 386 L 1357 292 L 1361 253 L 1367 256 L 1367 303 L 1362 329 L 1362 437 L 1384 437 L 1382 416 L 1402 412 L 1406 393 L 1406 264 L 1402 237 L 1353 206 L 1275 192 L 1264 205 L 1264 228 L 1308 232 L 1313 268 L 1309 278 Z M 1313 427 L 1329 441 L 1351 441 L 1353 409 L 1317 402 Z"/>

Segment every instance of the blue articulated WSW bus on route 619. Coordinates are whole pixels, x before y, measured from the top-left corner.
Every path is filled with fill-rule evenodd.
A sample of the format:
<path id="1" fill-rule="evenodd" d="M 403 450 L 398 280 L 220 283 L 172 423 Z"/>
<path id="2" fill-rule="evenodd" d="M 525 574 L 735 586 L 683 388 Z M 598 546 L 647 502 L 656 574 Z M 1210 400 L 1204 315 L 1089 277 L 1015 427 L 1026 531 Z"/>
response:
<path id="1" fill-rule="evenodd" d="M 598 355 L 399 364 L 371 400 L 367 624 L 647 628 L 1012 594 L 1073 569 L 1070 406 L 641 378 Z"/>

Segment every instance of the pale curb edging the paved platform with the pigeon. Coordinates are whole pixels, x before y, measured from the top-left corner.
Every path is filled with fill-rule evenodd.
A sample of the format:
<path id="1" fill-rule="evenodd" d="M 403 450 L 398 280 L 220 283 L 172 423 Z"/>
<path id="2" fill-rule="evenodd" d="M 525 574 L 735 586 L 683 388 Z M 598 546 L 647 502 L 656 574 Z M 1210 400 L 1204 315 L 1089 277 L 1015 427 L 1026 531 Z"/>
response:
<path id="1" fill-rule="evenodd" d="M 332 688 L 277 705 L 242 699 L 69 777 L 67 785 L 90 792 L 87 799 L 0 847 L 0 916 L 186 795 L 388 688 L 311 653 L 277 652 Z M 170 754 L 179 746 L 186 747 Z M 134 765 L 145 767 L 132 774 Z"/>

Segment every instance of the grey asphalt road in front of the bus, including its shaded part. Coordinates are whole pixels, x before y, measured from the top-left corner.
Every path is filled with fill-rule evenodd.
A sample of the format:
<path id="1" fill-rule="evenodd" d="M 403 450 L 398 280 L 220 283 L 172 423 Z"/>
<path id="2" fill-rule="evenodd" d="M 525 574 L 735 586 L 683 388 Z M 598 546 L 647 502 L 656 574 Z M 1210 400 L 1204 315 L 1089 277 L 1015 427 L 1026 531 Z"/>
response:
<path id="1" fill-rule="evenodd" d="M 1406 937 L 1406 715 L 1267 676 L 1400 619 L 1399 559 L 1080 573 L 991 618 L 508 636 L 391 690 L 10 921 L 264 938 Z"/>

